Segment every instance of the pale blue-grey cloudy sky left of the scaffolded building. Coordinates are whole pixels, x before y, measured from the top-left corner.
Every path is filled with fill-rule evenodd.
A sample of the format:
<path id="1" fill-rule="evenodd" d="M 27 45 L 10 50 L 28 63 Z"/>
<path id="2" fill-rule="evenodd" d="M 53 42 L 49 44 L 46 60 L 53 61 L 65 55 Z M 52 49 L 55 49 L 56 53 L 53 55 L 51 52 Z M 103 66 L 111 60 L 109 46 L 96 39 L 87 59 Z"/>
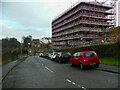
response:
<path id="1" fill-rule="evenodd" d="M 52 20 L 79 0 L 1 0 L 1 38 L 51 37 Z M 82 0 L 81 0 L 82 1 Z M 88 0 L 83 0 L 88 1 Z M 92 0 L 94 1 L 94 0 Z M 99 0 L 104 1 L 104 0 Z"/>

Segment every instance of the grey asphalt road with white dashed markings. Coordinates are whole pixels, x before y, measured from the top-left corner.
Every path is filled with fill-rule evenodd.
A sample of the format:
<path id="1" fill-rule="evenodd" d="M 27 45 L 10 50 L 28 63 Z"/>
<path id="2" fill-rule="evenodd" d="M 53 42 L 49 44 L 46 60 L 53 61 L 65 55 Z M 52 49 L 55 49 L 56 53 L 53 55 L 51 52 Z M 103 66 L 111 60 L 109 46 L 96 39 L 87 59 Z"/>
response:
<path id="1" fill-rule="evenodd" d="M 3 80 L 3 88 L 118 88 L 118 74 L 80 70 L 70 63 L 59 64 L 31 56 L 15 67 Z"/>

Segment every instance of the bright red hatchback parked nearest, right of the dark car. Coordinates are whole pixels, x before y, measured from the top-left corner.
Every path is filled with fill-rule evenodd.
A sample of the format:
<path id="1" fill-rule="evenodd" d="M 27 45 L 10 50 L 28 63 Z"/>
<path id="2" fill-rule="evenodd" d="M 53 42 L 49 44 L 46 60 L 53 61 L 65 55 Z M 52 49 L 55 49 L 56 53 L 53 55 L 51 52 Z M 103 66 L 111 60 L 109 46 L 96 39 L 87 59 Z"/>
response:
<path id="1" fill-rule="evenodd" d="M 72 62 L 72 66 L 80 66 L 80 69 L 83 69 L 85 66 L 89 65 L 98 67 L 100 64 L 98 56 L 94 51 L 77 52 L 73 55 L 70 61 Z"/>

